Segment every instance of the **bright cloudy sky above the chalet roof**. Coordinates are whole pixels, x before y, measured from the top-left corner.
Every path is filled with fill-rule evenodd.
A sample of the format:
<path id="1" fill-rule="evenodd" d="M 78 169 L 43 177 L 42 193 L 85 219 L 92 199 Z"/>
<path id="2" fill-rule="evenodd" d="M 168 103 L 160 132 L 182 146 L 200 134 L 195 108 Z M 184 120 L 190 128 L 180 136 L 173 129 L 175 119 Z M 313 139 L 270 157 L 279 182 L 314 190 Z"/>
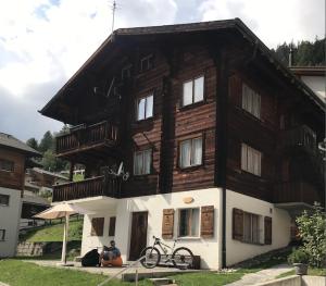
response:
<path id="1" fill-rule="evenodd" d="M 324 0 L 117 0 L 115 28 L 240 17 L 269 48 L 325 36 Z M 17 9 L 20 8 L 20 9 Z M 108 0 L 3 0 L 0 132 L 39 139 L 47 101 L 111 32 Z"/>

